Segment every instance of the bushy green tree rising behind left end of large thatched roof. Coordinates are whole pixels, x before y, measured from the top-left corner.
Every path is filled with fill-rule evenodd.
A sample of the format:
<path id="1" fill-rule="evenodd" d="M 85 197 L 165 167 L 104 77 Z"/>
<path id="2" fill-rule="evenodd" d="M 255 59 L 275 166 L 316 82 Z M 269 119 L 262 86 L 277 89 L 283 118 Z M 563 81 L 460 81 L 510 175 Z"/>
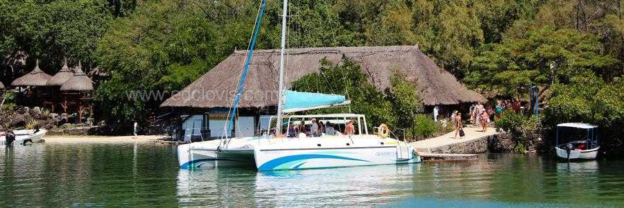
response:
<path id="1" fill-rule="evenodd" d="M 253 22 L 245 17 L 247 13 L 237 14 L 241 19 L 236 21 L 220 19 L 225 21 L 220 26 L 206 18 L 217 14 L 184 2 L 165 1 L 146 3 L 131 17 L 116 19 L 96 51 L 98 63 L 113 69 L 110 80 L 101 83 L 95 94 L 103 116 L 122 121 L 143 119 L 170 94 L 150 100 L 128 94 L 182 89 L 234 48 L 245 48 Z"/>

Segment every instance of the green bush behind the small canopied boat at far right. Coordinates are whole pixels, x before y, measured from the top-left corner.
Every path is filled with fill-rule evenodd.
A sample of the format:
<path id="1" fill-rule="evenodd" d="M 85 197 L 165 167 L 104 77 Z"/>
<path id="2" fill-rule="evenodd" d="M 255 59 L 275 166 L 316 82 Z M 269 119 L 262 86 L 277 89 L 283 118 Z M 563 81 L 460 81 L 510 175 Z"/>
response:
<path id="1" fill-rule="evenodd" d="M 543 125 L 554 137 L 558 123 L 583 122 L 599 126 L 600 146 L 607 154 L 621 155 L 624 147 L 624 80 L 607 85 L 596 76 L 579 76 L 571 85 L 556 85 L 544 111 Z M 553 144 L 548 141 L 546 144 Z"/>

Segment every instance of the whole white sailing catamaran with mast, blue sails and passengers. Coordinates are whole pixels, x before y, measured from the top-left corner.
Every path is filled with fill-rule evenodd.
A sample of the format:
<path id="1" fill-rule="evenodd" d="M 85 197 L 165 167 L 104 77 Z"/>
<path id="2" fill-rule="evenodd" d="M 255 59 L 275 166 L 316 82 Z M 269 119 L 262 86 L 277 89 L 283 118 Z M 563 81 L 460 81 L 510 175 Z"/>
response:
<path id="1" fill-rule="evenodd" d="M 180 168 L 251 166 L 257 168 L 258 171 L 275 171 L 420 162 L 421 159 L 415 154 L 413 146 L 405 141 L 389 137 L 390 131 L 387 126 L 380 125 L 376 128 L 376 134 L 369 134 L 366 117 L 363 114 L 284 116 L 292 112 L 349 105 L 349 101 L 341 95 L 294 92 L 284 89 L 287 5 L 287 1 L 284 0 L 281 22 L 279 96 L 274 133 L 243 138 L 227 138 L 226 136 L 222 139 L 180 145 L 177 148 Z M 229 122 L 226 123 L 224 130 L 231 128 L 236 117 L 236 108 L 239 105 L 249 70 L 265 6 L 266 1 L 261 1 L 254 34 L 241 73 L 241 81 L 236 89 L 236 96 L 228 116 Z M 284 119 L 286 123 L 283 122 Z M 300 130 L 293 128 L 293 122 L 300 123 Z M 306 132 L 306 129 L 311 129 L 307 126 L 317 125 L 316 122 L 336 123 L 338 128 L 340 125 L 345 125 L 346 129 L 344 132 L 338 130 L 336 133 Z M 349 128 L 346 125 L 350 125 Z M 293 134 L 293 131 L 298 133 Z"/>

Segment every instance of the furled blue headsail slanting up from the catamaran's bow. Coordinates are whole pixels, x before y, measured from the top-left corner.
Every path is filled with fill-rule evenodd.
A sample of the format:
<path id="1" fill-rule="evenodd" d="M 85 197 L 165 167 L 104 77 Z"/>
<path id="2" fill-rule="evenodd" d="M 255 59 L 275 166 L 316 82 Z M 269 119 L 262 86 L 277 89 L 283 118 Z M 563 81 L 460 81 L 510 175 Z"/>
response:
<path id="1" fill-rule="evenodd" d="M 247 53 L 247 60 L 245 60 L 245 67 L 243 67 L 243 73 L 241 73 L 241 80 L 239 81 L 239 87 L 236 89 L 236 97 L 234 98 L 234 105 L 232 105 L 231 107 L 231 116 L 229 116 L 229 122 L 227 123 L 225 130 L 229 129 L 232 127 L 232 124 L 234 123 L 234 118 L 236 116 L 236 108 L 239 105 L 239 101 L 241 98 L 241 94 L 243 92 L 243 87 L 245 85 L 245 78 L 247 78 L 247 73 L 249 71 L 249 64 L 250 61 L 252 59 L 252 55 L 253 55 L 253 50 L 254 50 L 254 46 L 256 44 L 256 39 L 258 37 L 258 32 L 260 30 L 260 25 L 262 23 L 262 17 L 264 15 L 264 9 L 266 8 L 266 0 L 261 0 L 260 3 L 260 8 L 259 8 L 259 12 L 256 18 L 256 22 L 254 23 L 254 32 L 253 32 L 253 37 L 252 40 L 250 42 L 250 46 L 248 49 L 248 53 Z M 229 139 L 227 139 L 227 142 L 225 143 L 226 145 L 229 144 L 231 137 Z M 220 148 L 220 146 L 219 146 Z"/>

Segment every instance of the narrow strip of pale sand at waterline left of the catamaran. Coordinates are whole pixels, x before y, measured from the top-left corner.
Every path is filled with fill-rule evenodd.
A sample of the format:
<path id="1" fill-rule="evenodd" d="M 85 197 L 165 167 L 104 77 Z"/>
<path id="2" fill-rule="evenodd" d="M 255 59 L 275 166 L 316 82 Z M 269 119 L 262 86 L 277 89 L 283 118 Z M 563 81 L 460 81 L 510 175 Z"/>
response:
<path id="1" fill-rule="evenodd" d="M 44 136 L 46 144 L 76 144 L 76 143 L 150 143 L 157 139 L 165 137 L 164 135 L 148 135 L 148 136 L 74 136 L 74 135 L 47 135 Z"/>

